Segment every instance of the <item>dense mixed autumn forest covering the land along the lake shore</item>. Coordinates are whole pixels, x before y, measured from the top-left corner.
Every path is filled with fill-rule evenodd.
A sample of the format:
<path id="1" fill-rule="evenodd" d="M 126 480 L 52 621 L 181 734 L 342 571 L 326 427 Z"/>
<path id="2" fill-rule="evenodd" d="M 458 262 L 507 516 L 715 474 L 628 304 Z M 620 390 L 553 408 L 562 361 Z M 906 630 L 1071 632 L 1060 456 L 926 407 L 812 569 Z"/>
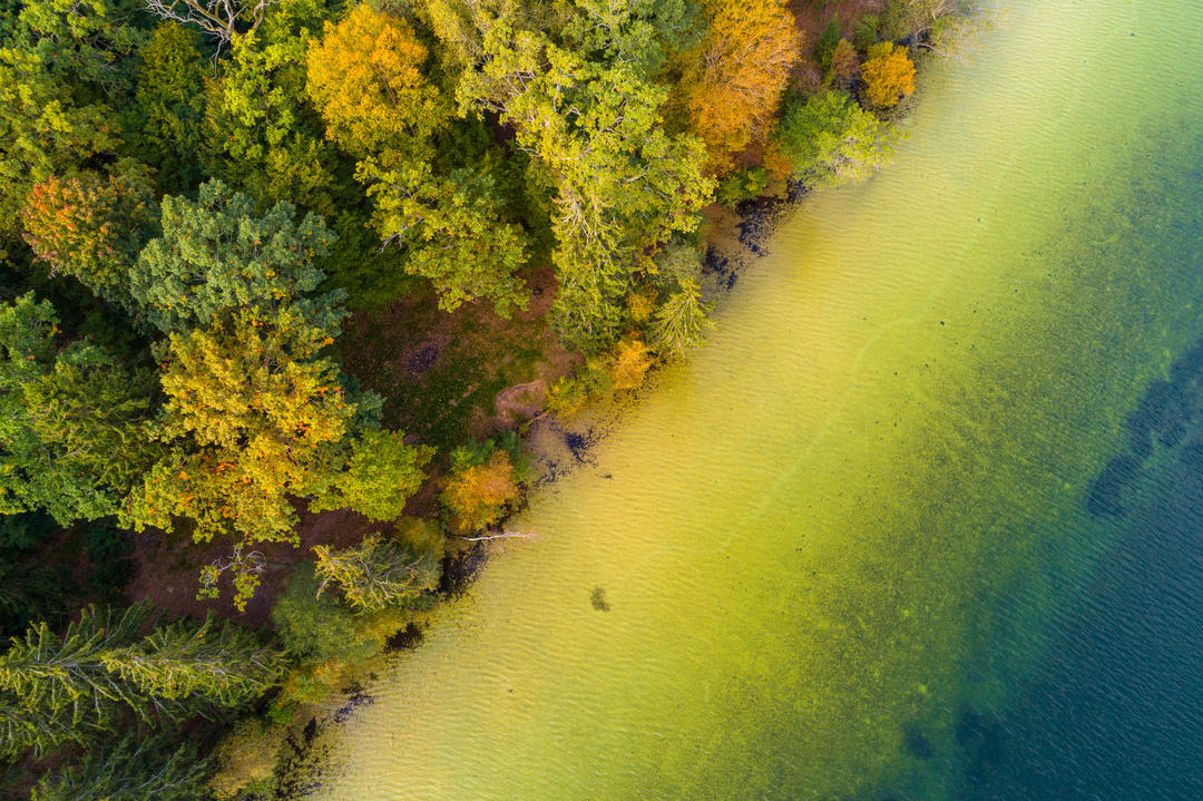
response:
<path id="1" fill-rule="evenodd" d="M 523 423 L 704 342 L 717 210 L 885 164 L 980 22 L 0 2 L 0 795 L 38 801 L 278 797 L 521 505 Z"/>

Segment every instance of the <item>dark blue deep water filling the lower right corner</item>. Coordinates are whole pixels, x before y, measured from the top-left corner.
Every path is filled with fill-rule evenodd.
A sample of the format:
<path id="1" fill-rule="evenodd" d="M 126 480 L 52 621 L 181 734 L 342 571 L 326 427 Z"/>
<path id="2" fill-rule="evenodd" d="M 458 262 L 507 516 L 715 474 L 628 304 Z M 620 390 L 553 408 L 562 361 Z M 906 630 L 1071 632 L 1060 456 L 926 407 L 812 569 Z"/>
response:
<path id="1" fill-rule="evenodd" d="M 1203 799 L 1203 343 L 1085 499 L 1114 550 L 1009 710 L 962 720 L 973 801 Z"/>

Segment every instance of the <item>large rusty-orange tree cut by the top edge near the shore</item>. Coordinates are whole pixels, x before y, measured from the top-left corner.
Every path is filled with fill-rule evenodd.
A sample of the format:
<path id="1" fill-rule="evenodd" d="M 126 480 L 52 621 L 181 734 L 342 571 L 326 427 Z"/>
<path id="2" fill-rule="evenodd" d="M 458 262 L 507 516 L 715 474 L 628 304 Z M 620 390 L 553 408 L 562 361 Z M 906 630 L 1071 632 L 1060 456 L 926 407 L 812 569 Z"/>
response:
<path id="1" fill-rule="evenodd" d="M 710 30 L 687 58 L 680 91 L 713 172 L 764 138 L 781 106 L 801 35 L 782 0 L 709 0 Z"/>

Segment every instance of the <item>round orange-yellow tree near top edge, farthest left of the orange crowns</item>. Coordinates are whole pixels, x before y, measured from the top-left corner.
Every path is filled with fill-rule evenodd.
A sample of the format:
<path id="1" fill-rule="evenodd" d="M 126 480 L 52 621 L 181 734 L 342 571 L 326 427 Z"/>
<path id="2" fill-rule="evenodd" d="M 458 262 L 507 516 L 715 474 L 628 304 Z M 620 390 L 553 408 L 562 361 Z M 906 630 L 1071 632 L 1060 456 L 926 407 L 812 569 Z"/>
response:
<path id="1" fill-rule="evenodd" d="M 384 167 L 422 161 L 450 103 L 422 75 L 426 47 L 403 19 L 361 4 L 310 40 L 306 89 L 326 136 Z"/>

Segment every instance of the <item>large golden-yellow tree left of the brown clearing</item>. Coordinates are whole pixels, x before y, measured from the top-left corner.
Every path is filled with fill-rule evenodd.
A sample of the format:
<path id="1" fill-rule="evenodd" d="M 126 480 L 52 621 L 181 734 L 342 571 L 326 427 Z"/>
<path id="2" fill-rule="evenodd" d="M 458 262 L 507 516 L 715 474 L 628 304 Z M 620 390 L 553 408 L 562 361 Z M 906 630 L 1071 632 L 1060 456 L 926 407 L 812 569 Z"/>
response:
<path id="1" fill-rule="evenodd" d="M 183 517 L 197 541 L 295 539 L 288 498 L 308 494 L 355 415 L 337 364 L 319 356 L 337 333 L 336 313 L 321 314 L 251 307 L 168 337 L 161 435 L 172 450 L 123 510 L 130 524 L 168 529 Z"/>

